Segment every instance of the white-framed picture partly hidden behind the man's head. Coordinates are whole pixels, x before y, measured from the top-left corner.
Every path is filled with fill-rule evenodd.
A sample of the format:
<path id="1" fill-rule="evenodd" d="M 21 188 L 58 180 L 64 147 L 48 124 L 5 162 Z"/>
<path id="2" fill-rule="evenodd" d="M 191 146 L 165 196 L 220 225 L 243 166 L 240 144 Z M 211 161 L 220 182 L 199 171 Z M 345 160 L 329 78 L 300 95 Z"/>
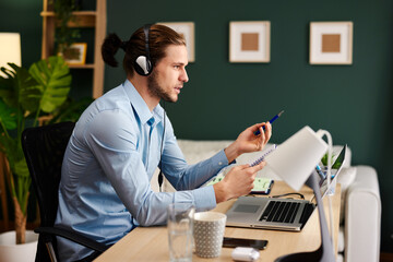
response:
<path id="1" fill-rule="evenodd" d="M 162 25 L 166 25 L 180 35 L 182 35 L 186 39 L 188 60 L 189 62 L 195 61 L 195 38 L 194 38 L 194 23 L 193 22 L 163 22 L 158 23 Z"/>

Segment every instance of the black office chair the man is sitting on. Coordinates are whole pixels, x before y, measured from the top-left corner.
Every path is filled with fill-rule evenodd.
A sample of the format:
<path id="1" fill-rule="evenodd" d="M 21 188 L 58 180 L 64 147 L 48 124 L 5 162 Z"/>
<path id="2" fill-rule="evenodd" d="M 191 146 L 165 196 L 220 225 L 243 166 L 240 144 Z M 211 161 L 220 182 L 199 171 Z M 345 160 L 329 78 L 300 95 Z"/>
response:
<path id="1" fill-rule="evenodd" d="M 39 262 L 58 260 L 56 236 L 94 250 L 92 255 L 81 261 L 92 261 L 109 248 L 75 231 L 53 227 L 62 159 L 74 126 L 74 122 L 61 122 L 27 128 L 22 133 L 22 147 L 39 205 L 40 227 L 34 230 L 39 234 L 36 253 Z"/>

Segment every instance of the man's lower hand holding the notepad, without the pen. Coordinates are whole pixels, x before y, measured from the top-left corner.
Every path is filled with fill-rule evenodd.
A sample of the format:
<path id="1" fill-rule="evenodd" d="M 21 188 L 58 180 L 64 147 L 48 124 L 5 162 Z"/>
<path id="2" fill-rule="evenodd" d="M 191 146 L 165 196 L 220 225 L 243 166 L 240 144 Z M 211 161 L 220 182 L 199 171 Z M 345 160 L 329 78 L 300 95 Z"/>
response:
<path id="1" fill-rule="evenodd" d="M 216 202 L 221 203 L 234 198 L 249 194 L 253 188 L 257 172 L 266 165 L 261 162 L 259 165 L 250 167 L 250 165 L 236 166 L 225 176 L 225 178 L 213 184 Z"/>

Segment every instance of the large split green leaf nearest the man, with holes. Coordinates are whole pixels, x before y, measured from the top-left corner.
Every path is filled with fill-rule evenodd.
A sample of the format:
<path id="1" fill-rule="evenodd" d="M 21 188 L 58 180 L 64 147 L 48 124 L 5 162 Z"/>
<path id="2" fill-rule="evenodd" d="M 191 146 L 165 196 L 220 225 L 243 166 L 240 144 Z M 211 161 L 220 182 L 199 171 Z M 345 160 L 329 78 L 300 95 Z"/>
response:
<path id="1" fill-rule="evenodd" d="M 41 87 L 39 108 L 43 111 L 52 112 L 64 103 L 71 88 L 71 74 L 61 57 L 49 57 L 35 62 L 28 72 Z"/>

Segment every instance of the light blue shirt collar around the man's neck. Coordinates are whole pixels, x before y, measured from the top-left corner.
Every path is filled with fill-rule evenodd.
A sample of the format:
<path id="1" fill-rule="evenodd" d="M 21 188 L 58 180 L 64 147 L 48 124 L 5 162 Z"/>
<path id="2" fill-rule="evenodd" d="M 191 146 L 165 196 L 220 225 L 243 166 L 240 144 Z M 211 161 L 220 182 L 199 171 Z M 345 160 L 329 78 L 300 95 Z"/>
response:
<path id="1" fill-rule="evenodd" d="M 145 100 L 129 80 L 124 81 L 123 87 L 142 123 L 146 123 L 151 118 L 154 118 L 153 124 L 155 126 L 163 120 L 164 109 L 159 104 L 153 109 L 152 114 Z"/>

